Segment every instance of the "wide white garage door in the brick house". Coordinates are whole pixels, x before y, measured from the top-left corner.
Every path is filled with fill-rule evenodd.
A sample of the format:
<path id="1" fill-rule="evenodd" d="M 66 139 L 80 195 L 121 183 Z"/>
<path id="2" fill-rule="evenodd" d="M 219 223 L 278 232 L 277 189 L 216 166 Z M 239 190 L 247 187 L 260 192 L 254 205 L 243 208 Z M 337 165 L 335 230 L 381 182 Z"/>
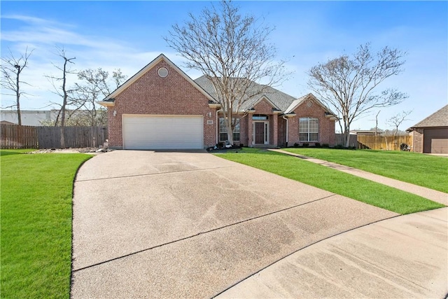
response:
<path id="1" fill-rule="evenodd" d="M 203 148 L 202 116 L 123 116 L 125 149 Z"/>

